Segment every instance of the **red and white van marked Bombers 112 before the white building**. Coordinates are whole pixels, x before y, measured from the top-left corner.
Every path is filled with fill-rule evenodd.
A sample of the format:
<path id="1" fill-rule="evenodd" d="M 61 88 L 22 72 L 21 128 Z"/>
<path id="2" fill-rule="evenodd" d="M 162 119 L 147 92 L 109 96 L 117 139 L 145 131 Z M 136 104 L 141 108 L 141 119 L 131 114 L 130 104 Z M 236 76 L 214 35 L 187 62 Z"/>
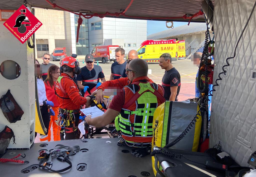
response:
<path id="1" fill-rule="evenodd" d="M 119 46 L 97 46 L 92 50 L 92 55 L 95 61 L 115 61 L 115 49 Z"/>

